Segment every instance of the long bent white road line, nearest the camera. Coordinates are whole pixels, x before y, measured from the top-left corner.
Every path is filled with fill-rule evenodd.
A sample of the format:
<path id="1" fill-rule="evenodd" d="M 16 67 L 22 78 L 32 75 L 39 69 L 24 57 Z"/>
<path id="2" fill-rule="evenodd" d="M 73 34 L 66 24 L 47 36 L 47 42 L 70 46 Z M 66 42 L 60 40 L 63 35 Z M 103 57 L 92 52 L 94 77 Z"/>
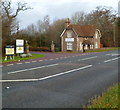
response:
<path id="1" fill-rule="evenodd" d="M 87 65 L 87 66 L 84 66 L 84 67 L 81 67 L 81 68 L 69 70 L 69 71 L 62 72 L 62 73 L 58 73 L 58 74 L 51 75 L 51 76 L 46 76 L 46 77 L 39 78 L 39 79 L 0 80 L 0 82 L 30 82 L 30 81 L 42 81 L 42 80 L 46 80 L 46 79 L 49 79 L 49 78 L 57 77 L 57 76 L 60 76 L 60 75 L 68 74 L 68 73 L 71 73 L 71 72 L 79 71 L 79 70 L 86 69 L 86 68 L 90 68 L 90 67 L 92 67 L 92 65 Z"/>

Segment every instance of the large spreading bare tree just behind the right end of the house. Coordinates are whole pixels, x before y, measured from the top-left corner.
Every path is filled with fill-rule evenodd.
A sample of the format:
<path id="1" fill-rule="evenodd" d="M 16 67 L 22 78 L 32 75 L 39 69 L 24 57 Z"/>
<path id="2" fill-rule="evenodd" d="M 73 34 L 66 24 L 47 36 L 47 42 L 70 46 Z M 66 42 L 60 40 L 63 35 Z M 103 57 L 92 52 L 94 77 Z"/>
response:
<path id="1" fill-rule="evenodd" d="M 99 6 L 86 16 L 85 22 L 100 29 L 104 46 L 114 46 L 115 19 L 116 12 L 111 7 Z"/>

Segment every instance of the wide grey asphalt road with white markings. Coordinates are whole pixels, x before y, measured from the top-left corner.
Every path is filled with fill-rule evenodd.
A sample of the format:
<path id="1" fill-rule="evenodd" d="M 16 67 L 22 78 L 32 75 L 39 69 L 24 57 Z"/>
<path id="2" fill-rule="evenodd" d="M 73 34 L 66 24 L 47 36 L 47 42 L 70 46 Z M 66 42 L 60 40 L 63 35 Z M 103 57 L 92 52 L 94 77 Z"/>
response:
<path id="1" fill-rule="evenodd" d="M 2 67 L 3 108 L 81 108 L 118 82 L 118 51 Z"/>

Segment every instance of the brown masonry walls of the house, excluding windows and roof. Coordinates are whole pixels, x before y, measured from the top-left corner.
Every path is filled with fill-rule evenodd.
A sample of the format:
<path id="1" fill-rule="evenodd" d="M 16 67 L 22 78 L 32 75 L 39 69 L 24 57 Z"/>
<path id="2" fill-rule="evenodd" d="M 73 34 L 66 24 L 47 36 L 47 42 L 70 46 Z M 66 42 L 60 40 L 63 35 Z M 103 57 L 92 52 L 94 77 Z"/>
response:
<path id="1" fill-rule="evenodd" d="M 61 44 L 62 44 L 62 52 L 67 52 L 67 42 L 65 41 L 65 38 L 67 37 L 67 31 L 72 32 L 72 38 L 74 38 L 73 43 L 73 52 L 81 52 L 83 51 L 82 43 L 86 38 L 78 37 L 76 33 L 73 30 L 66 30 L 63 36 L 61 37 Z M 97 36 L 97 37 L 96 37 Z M 94 36 L 92 38 L 87 38 L 91 43 L 93 43 L 93 49 L 100 48 L 100 33 L 98 30 L 96 30 Z"/>

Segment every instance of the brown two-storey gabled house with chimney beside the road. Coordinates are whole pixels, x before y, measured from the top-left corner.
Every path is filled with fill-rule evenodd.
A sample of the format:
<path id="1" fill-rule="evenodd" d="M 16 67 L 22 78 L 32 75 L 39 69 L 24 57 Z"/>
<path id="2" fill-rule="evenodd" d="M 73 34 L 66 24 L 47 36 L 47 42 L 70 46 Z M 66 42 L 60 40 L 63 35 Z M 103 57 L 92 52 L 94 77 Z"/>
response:
<path id="1" fill-rule="evenodd" d="M 65 29 L 60 35 L 62 52 L 83 52 L 88 49 L 100 48 L 101 33 L 92 25 L 70 24 L 65 22 Z"/>

